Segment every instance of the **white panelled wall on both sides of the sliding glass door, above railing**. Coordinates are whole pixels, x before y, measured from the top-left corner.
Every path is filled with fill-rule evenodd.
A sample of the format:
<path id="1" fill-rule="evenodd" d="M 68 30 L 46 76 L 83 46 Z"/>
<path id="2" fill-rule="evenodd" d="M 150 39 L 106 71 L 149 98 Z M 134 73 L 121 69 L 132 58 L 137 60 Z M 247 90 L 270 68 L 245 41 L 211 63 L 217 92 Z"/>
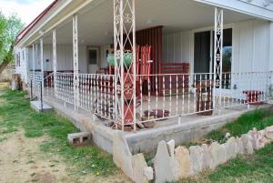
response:
<path id="1" fill-rule="evenodd" d="M 273 38 L 269 45 L 269 32 L 273 35 L 273 23 L 268 21 L 251 20 L 232 24 L 233 28 L 233 61 L 232 72 L 267 71 L 270 54 L 273 57 Z M 269 30 L 270 28 L 270 30 Z M 213 30 L 208 27 L 206 30 Z M 163 36 L 163 61 L 189 62 L 194 66 L 194 33 L 196 30 L 181 31 Z M 192 53 L 190 53 L 192 52 Z M 273 61 L 272 61 L 273 62 Z M 269 68 L 273 70 L 273 63 Z"/>

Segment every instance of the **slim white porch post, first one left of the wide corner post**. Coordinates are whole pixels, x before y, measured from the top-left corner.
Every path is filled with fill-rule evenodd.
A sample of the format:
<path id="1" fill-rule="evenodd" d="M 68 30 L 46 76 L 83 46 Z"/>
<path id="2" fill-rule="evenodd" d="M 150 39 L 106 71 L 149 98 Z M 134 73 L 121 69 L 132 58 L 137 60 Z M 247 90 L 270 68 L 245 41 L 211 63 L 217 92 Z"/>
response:
<path id="1" fill-rule="evenodd" d="M 74 110 L 79 106 L 79 81 L 78 81 L 78 35 L 77 35 L 77 15 L 73 15 L 73 89 L 74 89 Z"/>

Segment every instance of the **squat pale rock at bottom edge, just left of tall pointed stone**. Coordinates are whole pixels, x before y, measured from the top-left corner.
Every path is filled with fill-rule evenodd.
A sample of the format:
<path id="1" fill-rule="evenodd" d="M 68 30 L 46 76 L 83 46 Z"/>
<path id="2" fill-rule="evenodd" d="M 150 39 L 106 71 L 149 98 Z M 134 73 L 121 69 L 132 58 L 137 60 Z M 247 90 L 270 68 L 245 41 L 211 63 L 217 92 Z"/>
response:
<path id="1" fill-rule="evenodd" d="M 132 167 L 134 172 L 134 182 L 136 183 L 148 183 L 148 178 L 145 174 L 147 167 L 147 162 L 142 153 L 134 155 L 132 157 Z M 150 175 L 148 175 L 150 176 Z M 153 177 L 153 169 L 152 169 L 152 177 Z M 153 179 L 153 178 L 152 178 Z"/>

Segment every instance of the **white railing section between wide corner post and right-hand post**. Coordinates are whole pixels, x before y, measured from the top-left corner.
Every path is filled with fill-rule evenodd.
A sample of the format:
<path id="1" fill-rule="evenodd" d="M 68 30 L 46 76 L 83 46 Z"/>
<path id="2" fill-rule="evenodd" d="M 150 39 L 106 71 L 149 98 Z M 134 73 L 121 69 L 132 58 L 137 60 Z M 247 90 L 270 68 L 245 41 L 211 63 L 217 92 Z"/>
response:
<path id="1" fill-rule="evenodd" d="M 212 114 L 213 76 L 213 73 L 136 76 L 139 80 L 138 120 Z"/>

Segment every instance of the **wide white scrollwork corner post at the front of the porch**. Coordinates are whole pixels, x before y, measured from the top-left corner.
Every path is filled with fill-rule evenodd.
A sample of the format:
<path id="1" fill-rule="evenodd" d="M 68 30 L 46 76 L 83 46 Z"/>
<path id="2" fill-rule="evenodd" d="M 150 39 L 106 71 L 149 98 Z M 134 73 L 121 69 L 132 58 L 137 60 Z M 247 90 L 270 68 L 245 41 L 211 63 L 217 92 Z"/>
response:
<path id="1" fill-rule="evenodd" d="M 114 0 L 114 55 L 116 119 L 122 130 L 126 124 L 136 130 L 135 0 Z"/>

